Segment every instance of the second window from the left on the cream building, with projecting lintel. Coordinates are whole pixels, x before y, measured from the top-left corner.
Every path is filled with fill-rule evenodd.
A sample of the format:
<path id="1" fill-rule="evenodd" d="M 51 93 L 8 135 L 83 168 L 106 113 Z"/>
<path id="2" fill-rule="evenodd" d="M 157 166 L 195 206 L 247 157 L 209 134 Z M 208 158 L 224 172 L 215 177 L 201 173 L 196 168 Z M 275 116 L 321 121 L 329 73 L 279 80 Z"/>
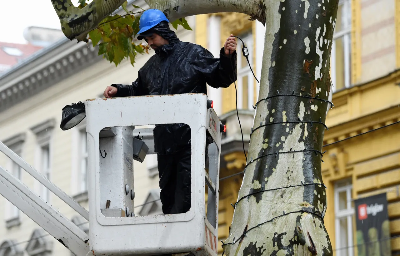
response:
<path id="1" fill-rule="evenodd" d="M 51 137 L 54 129 L 55 120 L 49 119 L 40 123 L 32 128 L 32 132 L 36 135 L 37 151 L 36 151 L 36 169 L 42 173 L 48 180 L 51 179 L 51 166 L 52 166 L 52 145 Z M 35 182 L 36 191 L 38 195 L 50 202 L 50 191 L 38 181 Z"/>

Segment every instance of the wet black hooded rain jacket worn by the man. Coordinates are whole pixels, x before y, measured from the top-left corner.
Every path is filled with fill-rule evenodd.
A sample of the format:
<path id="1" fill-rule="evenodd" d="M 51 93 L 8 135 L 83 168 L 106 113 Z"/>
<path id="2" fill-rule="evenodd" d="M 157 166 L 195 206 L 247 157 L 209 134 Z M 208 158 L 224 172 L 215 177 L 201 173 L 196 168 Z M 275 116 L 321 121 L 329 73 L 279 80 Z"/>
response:
<path id="1" fill-rule="evenodd" d="M 207 94 L 206 83 L 219 88 L 236 81 L 236 51 L 228 58 L 222 48 L 220 58 L 214 58 L 202 46 L 181 42 L 168 24 L 159 24 L 153 31 L 169 44 L 155 50 L 156 54 L 140 68 L 132 85 L 112 84 L 118 88 L 116 97 Z M 160 124 L 154 128 L 154 149 L 158 154 L 169 155 L 189 144 L 190 127 L 186 124 Z"/>

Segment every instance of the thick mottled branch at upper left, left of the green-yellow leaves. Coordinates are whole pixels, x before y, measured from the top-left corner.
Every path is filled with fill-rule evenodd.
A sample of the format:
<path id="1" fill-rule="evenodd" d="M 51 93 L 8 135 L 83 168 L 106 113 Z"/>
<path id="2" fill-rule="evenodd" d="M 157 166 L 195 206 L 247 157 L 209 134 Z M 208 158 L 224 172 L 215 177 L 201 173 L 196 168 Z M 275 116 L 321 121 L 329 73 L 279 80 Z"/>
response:
<path id="1" fill-rule="evenodd" d="M 61 30 L 69 40 L 87 42 L 88 32 L 97 28 L 104 18 L 121 6 L 125 0 L 94 0 L 82 9 L 70 0 L 51 0 L 60 19 Z"/>

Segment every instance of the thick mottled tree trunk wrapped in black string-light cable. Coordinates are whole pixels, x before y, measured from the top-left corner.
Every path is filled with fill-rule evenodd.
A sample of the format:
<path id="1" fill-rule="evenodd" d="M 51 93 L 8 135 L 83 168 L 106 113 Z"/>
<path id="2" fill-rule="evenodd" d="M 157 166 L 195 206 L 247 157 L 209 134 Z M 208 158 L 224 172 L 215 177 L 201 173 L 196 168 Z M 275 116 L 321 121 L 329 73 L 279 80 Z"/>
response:
<path id="1" fill-rule="evenodd" d="M 321 151 L 337 8 L 338 0 L 266 1 L 261 101 L 223 246 L 229 256 L 332 255 Z"/>

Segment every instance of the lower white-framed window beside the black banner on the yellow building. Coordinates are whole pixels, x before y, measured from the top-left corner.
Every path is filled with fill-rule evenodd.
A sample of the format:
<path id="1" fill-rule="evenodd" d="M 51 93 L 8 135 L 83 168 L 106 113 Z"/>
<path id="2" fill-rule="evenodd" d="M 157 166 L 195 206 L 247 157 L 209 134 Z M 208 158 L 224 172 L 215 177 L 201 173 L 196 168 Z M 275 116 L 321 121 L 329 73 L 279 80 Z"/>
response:
<path id="1" fill-rule="evenodd" d="M 334 200 L 336 254 L 353 256 L 354 202 L 352 200 L 351 181 L 344 181 L 335 185 Z"/>

